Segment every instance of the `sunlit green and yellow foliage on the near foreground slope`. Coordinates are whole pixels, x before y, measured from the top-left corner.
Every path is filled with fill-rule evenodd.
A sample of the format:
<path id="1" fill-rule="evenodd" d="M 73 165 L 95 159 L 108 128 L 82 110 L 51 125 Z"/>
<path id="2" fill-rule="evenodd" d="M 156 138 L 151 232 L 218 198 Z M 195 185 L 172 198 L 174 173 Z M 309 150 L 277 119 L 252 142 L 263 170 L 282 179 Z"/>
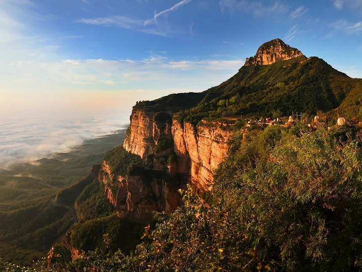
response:
<path id="1" fill-rule="evenodd" d="M 69 271 L 361 271 L 362 152 L 346 133 L 236 137 L 207 201 L 182 191 L 130 256 L 92 252 Z"/>

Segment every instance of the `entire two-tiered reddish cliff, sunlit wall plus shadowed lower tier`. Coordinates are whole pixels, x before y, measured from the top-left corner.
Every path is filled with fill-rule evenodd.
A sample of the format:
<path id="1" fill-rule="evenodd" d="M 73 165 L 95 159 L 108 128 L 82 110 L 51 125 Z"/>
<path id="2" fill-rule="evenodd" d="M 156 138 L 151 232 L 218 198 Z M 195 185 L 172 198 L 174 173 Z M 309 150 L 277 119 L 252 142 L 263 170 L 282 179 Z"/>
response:
<path id="1" fill-rule="evenodd" d="M 124 149 L 113 153 L 125 152 L 120 161 L 123 166 L 130 153 L 139 155 L 140 162 L 132 161 L 128 172 L 122 172 L 114 170 L 120 168 L 106 155 L 98 178 L 119 216 L 150 222 L 152 211 L 170 214 L 177 209 L 179 189 L 185 189 L 187 183 L 197 192 L 211 189 L 212 171 L 226 156 L 229 136 L 223 124 L 205 122 L 196 129 L 172 120 L 167 112 L 134 109 Z"/>

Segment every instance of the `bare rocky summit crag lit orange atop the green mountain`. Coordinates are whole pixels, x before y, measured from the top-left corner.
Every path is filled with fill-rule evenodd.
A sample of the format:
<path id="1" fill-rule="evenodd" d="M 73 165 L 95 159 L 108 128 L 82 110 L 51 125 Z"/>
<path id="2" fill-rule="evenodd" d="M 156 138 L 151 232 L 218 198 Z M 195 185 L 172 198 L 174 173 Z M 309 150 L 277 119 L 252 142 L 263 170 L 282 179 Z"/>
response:
<path id="1" fill-rule="evenodd" d="M 290 47 L 281 39 L 262 44 L 254 57 L 247 58 L 245 66 L 269 65 L 277 61 L 304 56 L 298 49 Z"/>

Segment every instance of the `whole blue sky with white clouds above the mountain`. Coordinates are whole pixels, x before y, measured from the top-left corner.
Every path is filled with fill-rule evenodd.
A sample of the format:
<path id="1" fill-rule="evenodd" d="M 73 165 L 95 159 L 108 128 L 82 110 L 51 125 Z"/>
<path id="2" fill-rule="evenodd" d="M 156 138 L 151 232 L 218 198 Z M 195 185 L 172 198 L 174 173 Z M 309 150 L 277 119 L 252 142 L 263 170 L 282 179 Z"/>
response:
<path id="1" fill-rule="evenodd" d="M 0 0 L 0 114 L 203 91 L 274 38 L 362 78 L 362 0 Z"/>

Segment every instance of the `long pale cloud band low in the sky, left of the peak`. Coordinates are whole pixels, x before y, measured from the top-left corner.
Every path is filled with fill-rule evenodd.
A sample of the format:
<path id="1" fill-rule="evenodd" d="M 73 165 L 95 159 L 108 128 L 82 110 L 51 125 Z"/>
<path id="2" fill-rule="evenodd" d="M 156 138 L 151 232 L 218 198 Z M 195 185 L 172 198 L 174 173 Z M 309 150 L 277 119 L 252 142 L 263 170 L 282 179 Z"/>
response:
<path id="1" fill-rule="evenodd" d="M 135 87 L 147 89 L 150 84 L 175 88 L 185 83 L 195 88 L 200 79 L 207 82 L 210 78 L 220 83 L 235 74 L 242 65 L 243 61 L 239 59 L 175 60 L 165 55 L 150 54 L 142 59 L 14 61 L 8 70 L 9 73 L 22 75 L 21 82 L 13 83 L 13 86 L 32 86 L 41 80 L 47 86 L 62 86 L 66 89 L 75 86 L 79 89 L 103 89 L 105 84 L 112 90 L 124 90 Z M 29 73 L 31 76 L 26 77 L 25 74 Z M 201 90 L 209 87 L 210 84 L 197 86 Z"/>

